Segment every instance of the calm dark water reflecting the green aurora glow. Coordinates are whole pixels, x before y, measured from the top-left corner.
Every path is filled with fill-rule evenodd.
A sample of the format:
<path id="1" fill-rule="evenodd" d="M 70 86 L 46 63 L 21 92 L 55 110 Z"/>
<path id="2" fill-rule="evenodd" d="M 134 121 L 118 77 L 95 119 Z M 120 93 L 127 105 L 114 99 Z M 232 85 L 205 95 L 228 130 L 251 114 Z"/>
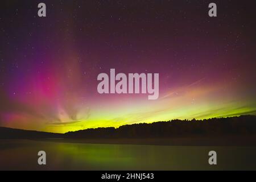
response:
<path id="1" fill-rule="evenodd" d="M 150 146 L 0 140 L 0 169 L 180 170 L 256 169 L 256 147 Z M 38 151 L 47 165 L 38 165 Z M 217 166 L 208 152 L 217 152 Z"/>

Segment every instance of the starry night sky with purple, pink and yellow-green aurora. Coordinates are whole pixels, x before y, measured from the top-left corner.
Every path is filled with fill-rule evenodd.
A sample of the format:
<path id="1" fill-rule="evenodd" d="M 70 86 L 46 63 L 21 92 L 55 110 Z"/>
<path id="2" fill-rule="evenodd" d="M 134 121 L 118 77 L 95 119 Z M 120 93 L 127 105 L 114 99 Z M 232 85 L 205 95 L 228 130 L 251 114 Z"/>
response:
<path id="1" fill-rule="evenodd" d="M 38 17 L 38 3 L 47 16 Z M 1 1 L 0 126 L 91 127 L 256 114 L 255 1 Z M 159 98 L 97 76 L 159 73 Z"/>

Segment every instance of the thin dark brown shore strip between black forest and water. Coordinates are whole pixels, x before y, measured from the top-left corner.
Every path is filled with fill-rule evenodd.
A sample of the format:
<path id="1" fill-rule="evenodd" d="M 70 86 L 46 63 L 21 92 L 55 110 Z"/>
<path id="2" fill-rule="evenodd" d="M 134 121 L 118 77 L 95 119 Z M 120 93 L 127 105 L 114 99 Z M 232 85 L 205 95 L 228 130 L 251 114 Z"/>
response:
<path id="1" fill-rule="evenodd" d="M 5 139 L 12 140 L 12 139 Z M 88 144 L 136 144 L 154 146 L 256 146 L 256 135 L 223 136 L 223 137 L 179 137 L 179 138 L 105 138 L 105 139 L 73 139 L 42 138 L 28 139 L 42 142 L 88 143 Z"/>

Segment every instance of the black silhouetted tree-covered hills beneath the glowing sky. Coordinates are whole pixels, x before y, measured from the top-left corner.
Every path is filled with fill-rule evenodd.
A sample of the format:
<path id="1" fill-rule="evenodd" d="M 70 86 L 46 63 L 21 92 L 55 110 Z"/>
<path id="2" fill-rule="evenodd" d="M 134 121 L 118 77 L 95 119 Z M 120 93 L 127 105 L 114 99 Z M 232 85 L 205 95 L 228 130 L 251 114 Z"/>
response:
<path id="1" fill-rule="evenodd" d="M 0 139 L 106 139 L 106 138 L 178 138 L 178 137 L 220 137 L 224 135 L 256 135 L 256 116 L 211 118 L 203 120 L 180 120 L 138 123 L 114 127 L 99 127 L 71 131 L 65 134 L 47 133 L 0 127 Z"/>

